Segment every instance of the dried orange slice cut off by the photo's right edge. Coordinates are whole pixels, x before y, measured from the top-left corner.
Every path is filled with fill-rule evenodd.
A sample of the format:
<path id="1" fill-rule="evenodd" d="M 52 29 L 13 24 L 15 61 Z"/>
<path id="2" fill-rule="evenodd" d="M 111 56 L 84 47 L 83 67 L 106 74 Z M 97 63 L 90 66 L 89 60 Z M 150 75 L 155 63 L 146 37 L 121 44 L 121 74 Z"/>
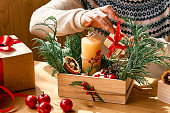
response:
<path id="1" fill-rule="evenodd" d="M 163 83 L 170 85 L 170 69 L 164 71 L 163 75 L 161 76 L 161 80 Z"/>

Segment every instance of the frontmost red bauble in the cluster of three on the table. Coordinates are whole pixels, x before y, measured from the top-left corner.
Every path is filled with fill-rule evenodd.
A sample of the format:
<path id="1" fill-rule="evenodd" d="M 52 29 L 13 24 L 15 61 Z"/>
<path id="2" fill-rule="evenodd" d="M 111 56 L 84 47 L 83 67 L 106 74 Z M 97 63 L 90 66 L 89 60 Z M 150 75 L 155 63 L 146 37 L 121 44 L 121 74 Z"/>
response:
<path id="1" fill-rule="evenodd" d="M 42 102 L 37 109 L 38 113 L 50 113 L 51 105 L 48 102 Z"/>

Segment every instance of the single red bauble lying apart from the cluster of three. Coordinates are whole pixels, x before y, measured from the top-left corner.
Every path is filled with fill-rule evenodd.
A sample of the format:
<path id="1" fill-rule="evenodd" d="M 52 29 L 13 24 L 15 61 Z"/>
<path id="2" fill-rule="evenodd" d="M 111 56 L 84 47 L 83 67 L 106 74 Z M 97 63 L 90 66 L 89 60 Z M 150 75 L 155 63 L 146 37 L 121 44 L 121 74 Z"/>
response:
<path id="1" fill-rule="evenodd" d="M 73 107 L 73 103 L 70 99 L 63 99 L 60 102 L 60 107 L 64 112 L 70 111 Z"/>

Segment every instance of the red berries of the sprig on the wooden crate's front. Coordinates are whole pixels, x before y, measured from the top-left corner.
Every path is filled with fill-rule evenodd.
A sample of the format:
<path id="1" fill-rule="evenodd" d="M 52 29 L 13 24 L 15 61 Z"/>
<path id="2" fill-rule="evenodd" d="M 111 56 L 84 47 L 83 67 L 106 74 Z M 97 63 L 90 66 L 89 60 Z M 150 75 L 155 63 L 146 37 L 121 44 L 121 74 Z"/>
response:
<path id="1" fill-rule="evenodd" d="M 93 86 L 91 87 L 87 82 L 83 82 L 82 86 L 83 86 L 83 90 L 87 90 L 87 92 L 86 92 L 87 95 L 89 95 L 89 94 L 95 95 L 96 94 L 94 87 Z"/>

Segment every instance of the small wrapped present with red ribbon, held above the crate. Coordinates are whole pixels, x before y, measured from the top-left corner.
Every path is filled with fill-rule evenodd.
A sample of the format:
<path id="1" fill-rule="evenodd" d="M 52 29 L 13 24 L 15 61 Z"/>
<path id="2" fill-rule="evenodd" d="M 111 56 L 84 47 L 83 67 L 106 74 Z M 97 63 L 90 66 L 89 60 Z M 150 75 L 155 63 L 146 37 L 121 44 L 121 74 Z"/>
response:
<path id="1" fill-rule="evenodd" d="M 104 45 L 110 50 L 107 55 L 108 58 L 112 55 L 112 53 L 118 55 L 121 50 L 126 48 L 126 46 L 119 42 L 123 37 L 127 38 L 127 36 L 120 31 L 120 23 L 121 19 L 117 23 L 116 33 L 110 34 L 104 41 Z"/>

